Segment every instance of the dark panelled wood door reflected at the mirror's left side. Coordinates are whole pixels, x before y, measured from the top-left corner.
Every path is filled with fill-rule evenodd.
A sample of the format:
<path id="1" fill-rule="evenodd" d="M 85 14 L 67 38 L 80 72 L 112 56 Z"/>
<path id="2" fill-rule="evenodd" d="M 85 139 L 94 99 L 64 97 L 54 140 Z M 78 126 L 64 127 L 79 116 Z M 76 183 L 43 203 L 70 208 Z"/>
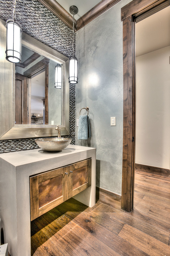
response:
<path id="1" fill-rule="evenodd" d="M 28 78 L 16 73 L 15 124 L 28 124 Z"/>

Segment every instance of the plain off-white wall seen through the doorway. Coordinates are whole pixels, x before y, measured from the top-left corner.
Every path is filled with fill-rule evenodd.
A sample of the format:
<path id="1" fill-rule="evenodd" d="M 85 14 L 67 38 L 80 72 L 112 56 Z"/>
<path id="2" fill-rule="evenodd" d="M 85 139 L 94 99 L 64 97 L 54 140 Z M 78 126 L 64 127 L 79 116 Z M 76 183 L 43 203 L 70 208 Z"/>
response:
<path id="1" fill-rule="evenodd" d="M 136 58 L 135 162 L 170 168 L 170 46 Z"/>

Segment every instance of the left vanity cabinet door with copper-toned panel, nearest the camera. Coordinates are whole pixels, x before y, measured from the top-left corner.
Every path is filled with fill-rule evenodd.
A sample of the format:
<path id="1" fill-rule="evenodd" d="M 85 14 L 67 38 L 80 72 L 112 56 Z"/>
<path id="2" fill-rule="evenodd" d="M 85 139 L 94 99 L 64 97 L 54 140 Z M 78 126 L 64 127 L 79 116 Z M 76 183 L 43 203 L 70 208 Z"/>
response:
<path id="1" fill-rule="evenodd" d="M 30 177 L 31 221 L 68 199 L 68 167 Z"/>

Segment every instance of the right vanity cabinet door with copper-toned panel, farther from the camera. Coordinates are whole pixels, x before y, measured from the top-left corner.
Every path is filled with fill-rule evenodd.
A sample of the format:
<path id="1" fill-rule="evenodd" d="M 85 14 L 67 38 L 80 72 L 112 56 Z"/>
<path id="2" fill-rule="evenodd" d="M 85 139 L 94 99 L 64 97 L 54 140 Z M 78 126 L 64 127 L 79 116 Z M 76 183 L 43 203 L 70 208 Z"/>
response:
<path id="1" fill-rule="evenodd" d="M 68 166 L 68 198 L 91 186 L 91 159 Z"/>

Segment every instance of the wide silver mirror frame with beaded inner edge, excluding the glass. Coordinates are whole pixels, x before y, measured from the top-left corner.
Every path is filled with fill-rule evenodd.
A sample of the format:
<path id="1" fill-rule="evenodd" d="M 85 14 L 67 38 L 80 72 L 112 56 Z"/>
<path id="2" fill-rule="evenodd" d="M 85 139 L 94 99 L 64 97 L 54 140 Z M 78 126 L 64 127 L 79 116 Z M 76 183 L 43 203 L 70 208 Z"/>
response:
<path id="1" fill-rule="evenodd" d="M 0 23 L 1 49 L 3 52 L 3 48 L 6 48 L 6 29 L 4 22 Z M 69 58 L 25 33 L 22 33 L 22 44 L 47 58 L 62 63 L 62 124 L 60 128 L 61 135 L 69 135 L 69 82 L 67 79 L 69 76 Z M 15 124 L 15 64 L 7 63 L 3 54 L 0 57 L 0 70 L 0 72 L 4 72 L 1 73 L 0 78 L 2 84 L 2 93 L 0 95 L 0 140 L 56 136 L 56 125 Z"/>

